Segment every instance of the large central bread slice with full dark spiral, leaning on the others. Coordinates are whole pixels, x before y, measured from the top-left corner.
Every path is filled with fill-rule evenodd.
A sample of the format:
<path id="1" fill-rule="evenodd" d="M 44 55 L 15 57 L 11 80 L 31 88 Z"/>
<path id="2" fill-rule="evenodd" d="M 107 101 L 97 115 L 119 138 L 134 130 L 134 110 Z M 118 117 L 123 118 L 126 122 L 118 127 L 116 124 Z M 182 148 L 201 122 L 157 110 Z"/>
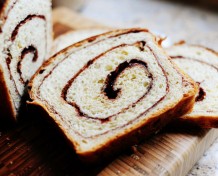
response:
<path id="1" fill-rule="evenodd" d="M 116 30 L 76 43 L 31 79 L 32 105 L 93 162 L 157 132 L 188 112 L 197 86 L 146 29 Z"/>

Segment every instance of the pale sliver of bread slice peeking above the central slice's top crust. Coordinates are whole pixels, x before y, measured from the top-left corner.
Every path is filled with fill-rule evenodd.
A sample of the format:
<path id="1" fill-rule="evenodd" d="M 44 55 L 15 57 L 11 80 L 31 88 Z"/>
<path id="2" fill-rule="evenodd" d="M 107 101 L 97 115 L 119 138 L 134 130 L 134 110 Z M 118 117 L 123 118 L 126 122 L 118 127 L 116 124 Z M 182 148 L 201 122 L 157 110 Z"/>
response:
<path id="1" fill-rule="evenodd" d="M 58 53 L 76 42 L 104 32 L 106 32 L 105 29 L 81 29 L 67 32 L 54 40 L 51 55 Z"/>

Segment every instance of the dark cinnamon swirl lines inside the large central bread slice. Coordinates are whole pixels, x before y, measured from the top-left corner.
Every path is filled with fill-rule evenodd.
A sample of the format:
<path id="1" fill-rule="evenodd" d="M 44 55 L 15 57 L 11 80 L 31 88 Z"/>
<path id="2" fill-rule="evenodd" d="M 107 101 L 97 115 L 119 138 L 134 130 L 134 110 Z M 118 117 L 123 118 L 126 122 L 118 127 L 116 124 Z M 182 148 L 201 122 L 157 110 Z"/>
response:
<path id="1" fill-rule="evenodd" d="M 126 32 L 126 33 L 117 34 L 117 35 L 111 36 L 111 37 L 109 37 L 109 38 L 120 37 L 120 36 L 122 36 L 122 35 L 124 35 L 124 34 L 128 34 L 128 33 L 131 33 L 131 32 L 133 32 L 133 33 L 138 33 L 138 32 L 147 32 L 147 31 L 139 31 L 139 30 L 134 31 L 134 30 L 133 30 L 133 31 Z M 94 41 L 93 44 L 96 44 L 96 43 L 98 43 L 98 42 L 102 42 L 102 41 L 104 41 L 104 40 L 106 40 L 106 39 L 103 39 L 103 40 L 100 40 L 100 41 Z M 137 42 L 137 43 L 135 43 L 135 44 L 133 44 L 133 45 L 139 47 L 138 44 L 139 44 L 140 42 L 141 42 L 141 41 L 139 41 L 139 42 Z M 146 45 L 146 43 L 143 41 L 143 43 L 141 43 L 140 46 L 145 46 L 145 45 Z M 102 53 L 101 55 L 99 55 L 99 56 L 97 56 L 96 58 L 94 58 L 94 59 L 92 59 L 91 61 L 89 61 L 71 80 L 68 81 L 67 85 L 66 85 L 66 86 L 64 87 L 64 89 L 62 90 L 62 94 L 61 94 L 62 99 L 66 101 L 66 95 L 67 95 L 67 91 L 68 91 L 69 87 L 71 86 L 71 84 L 73 83 L 73 81 L 75 80 L 75 78 L 76 78 L 82 71 L 84 71 L 85 69 L 87 69 L 91 64 L 93 64 L 93 62 L 94 62 L 96 59 L 98 59 L 99 57 L 103 56 L 103 55 L 106 54 L 107 52 L 109 52 L 109 51 L 111 51 L 111 50 L 113 50 L 113 49 L 115 49 L 115 48 L 123 47 L 123 46 L 128 46 L 128 45 L 127 45 L 127 44 L 122 44 L 122 45 L 120 45 L 120 46 L 111 48 L 110 50 L 108 50 L 108 51 Z M 153 109 L 154 107 L 156 107 L 160 102 L 162 102 L 162 101 L 165 99 L 167 93 L 169 92 L 168 76 L 167 76 L 165 70 L 162 68 L 161 64 L 159 63 L 156 54 L 153 52 L 153 50 L 152 50 L 149 46 L 147 46 L 147 48 L 152 52 L 153 56 L 154 56 L 155 59 L 157 60 L 158 66 L 161 68 L 161 70 L 162 70 L 162 72 L 163 72 L 163 74 L 164 74 L 164 76 L 165 76 L 165 78 L 166 78 L 166 82 L 165 82 L 165 84 L 166 84 L 166 94 L 165 94 L 164 96 L 162 96 L 160 99 L 158 99 L 158 100 L 156 101 L 156 103 L 154 103 L 151 107 L 149 107 L 148 109 L 146 109 L 143 113 L 141 113 L 140 115 L 138 115 L 136 118 L 134 118 L 133 120 L 131 120 L 131 121 L 127 122 L 126 124 L 124 124 L 124 125 L 122 125 L 122 126 L 120 126 L 120 127 L 117 127 L 117 128 L 122 128 L 122 127 L 124 127 L 124 126 L 127 126 L 127 125 L 133 123 L 133 122 L 134 122 L 136 119 L 138 119 L 139 117 L 141 117 L 141 116 L 143 116 L 143 115 L 146 115 L 150 110 L 152 110 L 152 109 Z M 139 49 L 140 49 L 140 48 L 139 48 Z M 79 49 L 79 50 L 81 50 L 81 49 Z M 78 50 L 78 51 L 79 51 L 79 50 Z M 140 50 L 141 50 L 141 49 L 140 49 Z M 43 78 L 41 84 L 39 85 L 38 95 L 40 95 L 40 87 L 42 86 L 43 82 L 44 82 L 46 79 L 48 79 L 49 76 L 52 74 L 52 72 L 58 67 L 58 65 L 61 64 L 62 62 L 64 62 L 67 58 L 68 58 L 68 55 L 65 56 L 64 59 L 62 59 L 59 63 L 57 63 L 57 64 L 51 69 L 51 71 L 50 71 L 47 75 L 44 76 L 44 78 Z M 140 61 L 140 60 L 138 60 L 138 59 L 132 59 L 132 60 L 130 61 L 130 62 L 131 62 L 130 65 L 126 66 L 126 68 L 131 67 L 131 66 L 134 66 L 134 64 L 136 64 L 136 65 L 143 65 L 145 68 L 147 68 L 147 64 L 146 64 L 145 62 L 140 61 L 140 63 L 137 63 L 138 61 Z M 136 62 L 136 63 L 134 63 L 134 62 Z M 126 64 L 126 63 L 125 63 L 125 64 Z M 125 64 L 124 64 L 124 65 L 125 65 Z M 122 65 L 122 64 L 120 64 L 120 65 Z M 122 67 L 122 66 L 118 66 L 118 67 Z M 117 68 L 116 70 L 119 70 L 119 69 Z M 125 69 L 124 69 L 124 70 L 125 70 Z M 117 71 L 117 73 L 118 73 L 118 71 Z M 148 73 L 149 73 L 149 71 L 148 71 Z M 149 73 L 149 74 L 150 74 L 150 73 Z M 117 77 L 118 75 L 119 75 L 119 74 L 115 75 L 115 77 Z M 149 91 L 152 89 L 152 86 L 153 86 L 153 76 L 150 74 L 150 75 L 149 75 L 149 78 L 152 79 L 152 80 L 151 80 L 151 84 L 149 85 L 149 88 L 148 88 L 149 90 L 145 93 L 145 95 L 144 95 L 143 97 L 141 97 L 137 102 L 132 103 L 129 107 L 127 107 L 127 108 L 121 110 L 121 112 L 119 112 L 118 114 L 120 114 L 120 113 L 122 113 L 123 111 L 129 109 L 130 107 L 136 106 L 136 104 L 137 104 L 139 101 L 141 101 L 141 99 L 143 99 L 143 98 L 149 93 Z M 115 80 L 116 80 L 115 78 L 113 78 L 113 79 L 110 78 L 110 82 L 115 82 Z M 108 82 L 107 85 L 109 85 L 109 84 L 110 84 L 110 83 Z M 164 84 L 164 83 L 163 83 L 163 84 Z M 110 88 L 109 88 L 109 87 L 110 87 Z M 113 91 L 116 91 L 116 90 L 113 89 L 113 86 L 108 86 L 108 88 L 109 88 L 109 90 L 112 91 L 112 92 L 113 92 Z M 104 90 L 104 89 L 103 89 L 103 90 Z M 110 91 L 109 91 L 109 92 L 110 92 Z M 119 91 L 118 91 L 117 93 L 119 93 Z M 114 93 L 112 93 L 112 94 L 114 94 Z M 116 93 L 115 93 L 115 94 L 116 94 Z M 108 96 L 111 97 L 111 95 L 108 95 Z M 113 96 L 114 96 L 114 95 L 113 95 Z M 112 96 L 112 97 L 113 97 L 113 96 Z M 114 97 L 116 98 L 116 96 L 114 96 Z M 41 99 L 39 96 L 38 96 L 38 98 Z M 42 100 L 42 101 L 48 103 L 46 100 Z M 67 102 L 67 101 L 66 101 L 66 102 Z M 70 102 L 70 103 L 67 102 L 67 103 L 70 104 L 70 105 L 72 105 L 72 106 L 74 106 L 74 108 L 75 108 L 75 109 L 77 110 L 77 112 L 78 112 L 78 116 L 79 116 L 79 117 L 91 118 L 91 117 L 89 117 L 88 115 L 86 115 L 86 114 L 84 114 L 83 112 L 81 112 L 79 106 L 77 106 L 75 103 L 72 103 L 72 102 Z M 54 108 L 52 105 L 51 105 L 50 108 L 52 109 L 52 111 L 53 111 L 55 114 L 59 115 L 59 113 L 55 110 L 55 108 Z M 118 114 L 117 114 L 117 115 L 118 115 Z M 111 117 L 107 117 L 107 118 L 105 118 L 105 119 L 100 119 L 100 118 L 92 118 L 92 119 L 94 119 L 94 120 L 99 120 L 99 121 L 101 121 L 101 123 L 107 123 L 107 122 L 109 122 L 109 121 L 111 120 Z M 116 128 L 116 129 L 117 129 L 117 128 Z M 96 136 L 99 136 L 99 135 L 106 134 L 106 133 L 108 133 L 108 132 L 109 132 L 109 131 L 105 131 L 105 132 L 103 132 L 103 133 L 101 133 L 101 134 L 89 136 L 89 137 L 86 137 L 86 138 L 96 137 Z M 80 135 L 80 136 L 85 137 L 84 135 L 80 134 L 78 131 L 75 131 L 75 133 L 77 133 L 77 134 Z"/>

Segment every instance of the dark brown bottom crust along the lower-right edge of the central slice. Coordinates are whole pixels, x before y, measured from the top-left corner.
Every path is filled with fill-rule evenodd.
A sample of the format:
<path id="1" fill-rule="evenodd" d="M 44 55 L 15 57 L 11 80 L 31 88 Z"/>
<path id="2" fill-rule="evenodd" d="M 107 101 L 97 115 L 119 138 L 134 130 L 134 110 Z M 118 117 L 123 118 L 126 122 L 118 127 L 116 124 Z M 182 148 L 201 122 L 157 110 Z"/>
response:
<path id="1" fill-rule="evenodd" d="M 126 149 L 127 146 L 138 144 L 142 141 L 142 139 L 148 138 L 151 134 L 158 132 L 164 126 L 166 126 L 173 118 L 175 114 L 177 117 L 189 112 L 194 105 L 194 96 L 184 98 L 178 105 L 165 113 L 154 117 L 149 118 L 147 123 L 143 124 L 143 126 L 139 129 L 135 129 L 131 133 L 123 135 L 119 138 L 119 140 L 114 139 L 113 141 L 109 141 L 105 144 L 97 152 L 89 152 L 80 154 L 80 159 L 86 163 L 94 163 L 100 162 L 101 158 L 109 158 L 111 154 L 117 155 L 119 151 Z"/>

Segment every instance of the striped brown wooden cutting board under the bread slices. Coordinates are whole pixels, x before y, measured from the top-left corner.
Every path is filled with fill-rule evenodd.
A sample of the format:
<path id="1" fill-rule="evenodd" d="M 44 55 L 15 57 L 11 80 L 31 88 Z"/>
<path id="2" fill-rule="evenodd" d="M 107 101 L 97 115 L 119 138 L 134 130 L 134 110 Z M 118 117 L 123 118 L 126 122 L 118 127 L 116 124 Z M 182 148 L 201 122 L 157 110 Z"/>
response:
<path id="1" fill-rule="evenodd" d="M 54 33 L 105 28 L 67 9 L 54 11 Z M 109 163 L 85 166 L 57 129 L 40 115 L 23 115 L 18 124 L 0 126 L 0 175 L 186 175 L 218 137 L 218 130 L 181 124 L 168 127 Z"/>

